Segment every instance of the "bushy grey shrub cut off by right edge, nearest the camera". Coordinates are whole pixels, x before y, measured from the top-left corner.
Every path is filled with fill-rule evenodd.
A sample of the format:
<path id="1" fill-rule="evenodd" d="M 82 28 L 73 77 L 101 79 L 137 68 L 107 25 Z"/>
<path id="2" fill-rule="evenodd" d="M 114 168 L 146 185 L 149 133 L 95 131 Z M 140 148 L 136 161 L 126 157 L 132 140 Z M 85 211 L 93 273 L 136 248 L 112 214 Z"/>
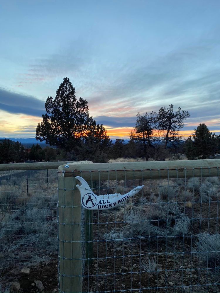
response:
<path id="1" fill-rule="evenodd" d="M 220 266 L 220 234 L 205 234 L 198 235 L 198 240 L 195 243 L 194 251 L 197 252 L 199 259 L 207 268 L 216 268 Z"/>

